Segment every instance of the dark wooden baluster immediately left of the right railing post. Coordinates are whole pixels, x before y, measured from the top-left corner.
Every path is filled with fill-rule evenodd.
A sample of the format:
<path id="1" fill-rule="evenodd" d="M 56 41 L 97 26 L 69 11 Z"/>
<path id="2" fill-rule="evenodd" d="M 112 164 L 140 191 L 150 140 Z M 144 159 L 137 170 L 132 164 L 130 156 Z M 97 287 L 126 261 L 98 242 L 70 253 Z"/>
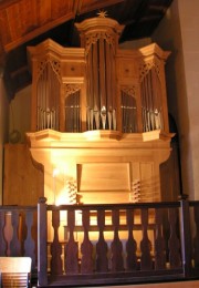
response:
<path id="1" fill-rule="evenodd" d="M 169 208 L 168 210 L 168 218 L 170 224 L 170 237 L 168 240 L 168 247 L 169 247 L 169 263 L 170 268 L 179 268 L 181 266 L 180 260 L 180 243 L 177 237 L 177 209 L 176 208 Z"/>

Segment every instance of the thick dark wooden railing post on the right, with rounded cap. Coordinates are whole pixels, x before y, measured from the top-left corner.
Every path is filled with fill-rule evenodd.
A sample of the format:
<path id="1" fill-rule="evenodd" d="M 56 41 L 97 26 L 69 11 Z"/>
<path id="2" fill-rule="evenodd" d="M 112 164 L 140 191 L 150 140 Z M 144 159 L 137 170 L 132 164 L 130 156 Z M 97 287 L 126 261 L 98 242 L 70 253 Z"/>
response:
<path id="1" fill-rule="evenodd" d="M 189 202 L 180 200 L 180 233 L 181 233 L 181 256 L 182 256 L 182 267 L 185 277 L 189 277 L 191 274 L 191 229 L 190 229 L 190 213 L 189 213 Z"/>

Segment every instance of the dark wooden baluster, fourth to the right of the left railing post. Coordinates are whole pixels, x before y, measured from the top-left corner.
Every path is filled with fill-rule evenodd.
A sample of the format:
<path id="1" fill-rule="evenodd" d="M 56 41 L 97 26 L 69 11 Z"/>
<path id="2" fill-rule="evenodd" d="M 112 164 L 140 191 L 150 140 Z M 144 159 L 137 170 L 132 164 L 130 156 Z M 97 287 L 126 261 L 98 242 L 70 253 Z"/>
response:
<path id="1" fill-rule="evenodd" d="M 107 243 L 104 239 L 105 210 L 97 210 L 97 225 L 100 229 L 96 244 L 96 270 L 106 272 L 108 270 Z"/>

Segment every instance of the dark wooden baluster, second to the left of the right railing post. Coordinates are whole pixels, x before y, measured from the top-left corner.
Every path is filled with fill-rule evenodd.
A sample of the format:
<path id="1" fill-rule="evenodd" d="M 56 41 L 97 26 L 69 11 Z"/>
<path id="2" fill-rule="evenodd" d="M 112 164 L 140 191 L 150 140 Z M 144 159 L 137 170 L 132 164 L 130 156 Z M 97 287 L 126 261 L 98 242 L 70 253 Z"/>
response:
<path id="1" fill-rule="evenodd" d="M 163 210 L 156 209 L 155 269 L 166 268 L 165 239 L 163 237 Z"/>

